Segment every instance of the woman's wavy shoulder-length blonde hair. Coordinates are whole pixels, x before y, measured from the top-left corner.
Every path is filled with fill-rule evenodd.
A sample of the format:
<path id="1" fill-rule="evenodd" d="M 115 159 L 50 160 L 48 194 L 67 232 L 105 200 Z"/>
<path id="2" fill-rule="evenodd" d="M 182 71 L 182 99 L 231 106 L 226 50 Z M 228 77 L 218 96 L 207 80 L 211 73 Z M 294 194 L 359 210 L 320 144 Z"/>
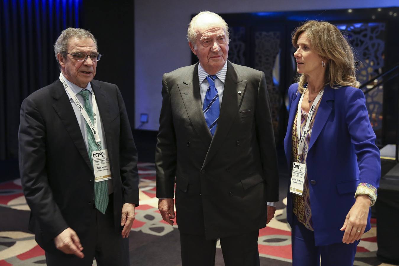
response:
<path id="1" fill-rule="evenodd" d="M 359 87 L 356 80 L 355 59 L 351 46 L 338 28 L 328 22 L 309 20 L 292 33 L 292 45 L 296 47 L 299 35 L 305 32 L 312 48 L 326 60 L 324 84 L 337 89 L 340 86 Z M 322 67 L 320 65 L 320 67 Z M 306 76 L 299 77 L 298 91 L 303 93 Z"/>

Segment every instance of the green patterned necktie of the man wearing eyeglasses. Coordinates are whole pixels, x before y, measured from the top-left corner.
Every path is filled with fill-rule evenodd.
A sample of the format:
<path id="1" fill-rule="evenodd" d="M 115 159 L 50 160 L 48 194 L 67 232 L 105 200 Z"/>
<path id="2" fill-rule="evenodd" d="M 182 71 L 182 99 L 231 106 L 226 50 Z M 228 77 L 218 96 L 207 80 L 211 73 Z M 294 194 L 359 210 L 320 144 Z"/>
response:
<path id="1" fill-rule="evenodd" d="M 82 95 L 83 99 L 85 100 L 85 103 L 83 104 L 83 108 L 85 108 L 85 111 L 87 112 L 87 115 L 90 117 L 91 122 L 93 123 L 93 107 L 90 104 L 89 100 L 89 91 L 84 89 L 79 91 L 79 95 Z M 87 122 L 86 124 L 86 132 L 87 132 L 87 142 L 89 144 L 89 159 L 91 166 L 93 167 L 93 158 L 91 156 L 92 152 L 95 152 L 98 150 L 98 146 L 95 142 L 93 132 L 91 131 L 91 128 Z M 105 211 L 107 210 L 108 206 L 108 182 L 106 181 L 101 181 L 101 182 L 94 182 L 94 203 L 96 208 L 101 211 L 101 213 L 105 214 Z"/>

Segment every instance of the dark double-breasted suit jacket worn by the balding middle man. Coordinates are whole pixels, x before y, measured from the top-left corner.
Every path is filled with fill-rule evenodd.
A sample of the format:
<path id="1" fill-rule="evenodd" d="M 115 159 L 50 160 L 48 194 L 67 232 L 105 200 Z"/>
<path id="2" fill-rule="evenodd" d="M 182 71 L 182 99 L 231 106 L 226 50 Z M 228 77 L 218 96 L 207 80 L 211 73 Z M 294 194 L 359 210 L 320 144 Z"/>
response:
<path id="1" fill-rule="evenodd" d="M 164 74 L 162 97 L 157 197 L 173 197 L 176 177 L 180 231 L 215 239 L 265 227 L 266 204 L 279 200 L 279 182 L 264 73 L 228 61 L 213 138 L 198 63 Z"/>

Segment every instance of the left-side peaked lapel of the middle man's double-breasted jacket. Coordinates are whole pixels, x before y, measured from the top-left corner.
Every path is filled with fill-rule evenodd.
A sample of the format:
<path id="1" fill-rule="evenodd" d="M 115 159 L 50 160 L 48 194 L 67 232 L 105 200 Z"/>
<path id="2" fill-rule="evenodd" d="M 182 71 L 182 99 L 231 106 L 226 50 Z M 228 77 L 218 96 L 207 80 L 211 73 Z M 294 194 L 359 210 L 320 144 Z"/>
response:
<path id="1" fill-rule="evenodd" d="M 188 118 L 206 147 L 211 145 L 212 135 L 209 132 L 202 112 L 201 93 L 199 92 L 198 63 L 192 65 L 183 83 L 178 83 L 180 95 L 186 108 Z"/>

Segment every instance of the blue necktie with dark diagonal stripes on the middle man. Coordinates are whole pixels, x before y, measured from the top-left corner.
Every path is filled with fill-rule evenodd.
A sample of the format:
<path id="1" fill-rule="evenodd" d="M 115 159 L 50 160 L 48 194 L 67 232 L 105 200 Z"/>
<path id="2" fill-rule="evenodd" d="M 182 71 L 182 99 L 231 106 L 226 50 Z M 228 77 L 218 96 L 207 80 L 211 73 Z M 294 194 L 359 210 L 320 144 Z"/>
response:
<path id="1" fill-rule="evenodd" d="M 203 100 L 203 116 L 205 116 L 206 124 L 212 136 L 215 134 L 217 120 L 219 118 L 219 94 L 215 87 L 216 76 L 207 75 L 206 79 L 209 82 L 208 90 Z"/>

